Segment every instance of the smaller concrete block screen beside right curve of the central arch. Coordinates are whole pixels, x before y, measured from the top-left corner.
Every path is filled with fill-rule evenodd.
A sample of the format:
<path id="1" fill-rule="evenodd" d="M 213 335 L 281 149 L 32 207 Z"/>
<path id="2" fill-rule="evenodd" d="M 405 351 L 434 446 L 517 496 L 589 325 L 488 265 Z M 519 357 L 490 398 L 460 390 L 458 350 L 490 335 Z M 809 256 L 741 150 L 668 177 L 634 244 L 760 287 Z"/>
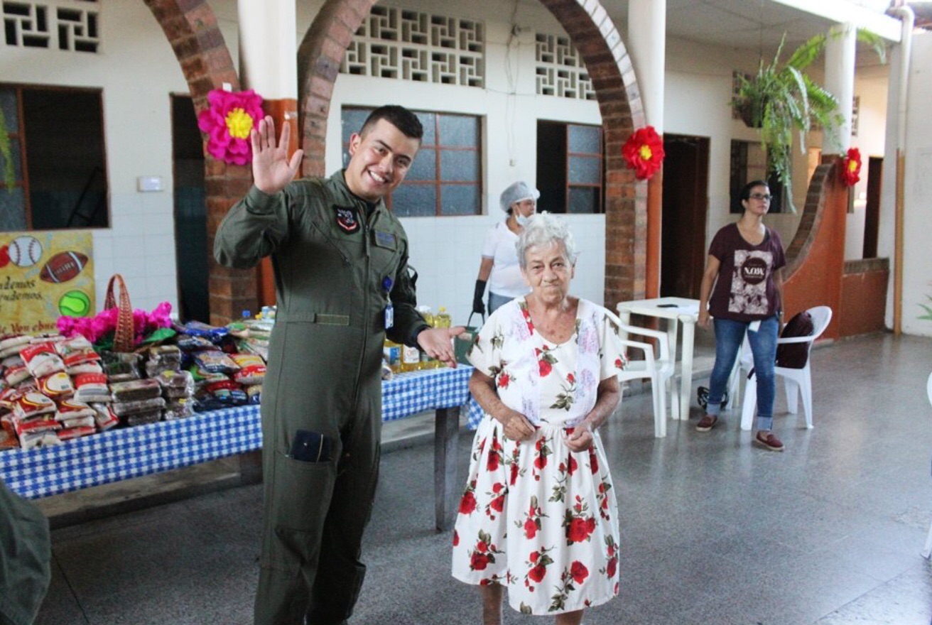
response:
<path id="1" fill-rule="evenodd" d="M 539 95 L 596 100 L 596 89 L 583 57 L 569 37 L 538 33 L 535 36 L 535 68 Z"/>

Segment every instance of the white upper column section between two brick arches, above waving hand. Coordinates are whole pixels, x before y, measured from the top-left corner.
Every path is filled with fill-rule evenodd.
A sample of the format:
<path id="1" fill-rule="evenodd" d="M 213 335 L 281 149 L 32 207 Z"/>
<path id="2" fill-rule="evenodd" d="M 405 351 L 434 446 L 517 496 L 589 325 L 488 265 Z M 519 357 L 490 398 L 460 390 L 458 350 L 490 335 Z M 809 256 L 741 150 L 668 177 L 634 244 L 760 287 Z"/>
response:
<path id="1" fill-rule="evenodd" d="M 265 100 L 297 99 L 295 0 L 238 0 L 240 83 Z"/>

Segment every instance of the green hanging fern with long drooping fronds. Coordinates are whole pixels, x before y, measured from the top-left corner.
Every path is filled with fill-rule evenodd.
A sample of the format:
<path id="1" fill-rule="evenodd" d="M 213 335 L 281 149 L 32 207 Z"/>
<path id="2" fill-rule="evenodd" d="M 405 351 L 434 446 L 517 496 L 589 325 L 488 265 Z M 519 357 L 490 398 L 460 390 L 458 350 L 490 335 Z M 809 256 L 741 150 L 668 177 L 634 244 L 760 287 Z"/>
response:
<path id="1" fill-rule="evenodd" d="M 833 133 L 843 121 L 838 113 L 839 102 L 829 91 L 818 85 L 803 70 L 816 61 L 825 49 L 829 37 L 841 32 L 816 34 L 793 51 L 788 61 L 781 62 L 787 35 L 776 48 L 774 60 L 761 64 L 757 74 L 740 76 L 741 84 L 732 106 L 750 128 L 761 129 L 761 143 L 767 152 L 768 173 L 786 188 L 789 206 L 792 202 L 793 133 L 799 133 L 802 154 L 806 150 L 806 134 L 815 126 Z M 857 39 L 876 50 L 885 60 L 884 40 L 876 34 L 858 29 Z"/>

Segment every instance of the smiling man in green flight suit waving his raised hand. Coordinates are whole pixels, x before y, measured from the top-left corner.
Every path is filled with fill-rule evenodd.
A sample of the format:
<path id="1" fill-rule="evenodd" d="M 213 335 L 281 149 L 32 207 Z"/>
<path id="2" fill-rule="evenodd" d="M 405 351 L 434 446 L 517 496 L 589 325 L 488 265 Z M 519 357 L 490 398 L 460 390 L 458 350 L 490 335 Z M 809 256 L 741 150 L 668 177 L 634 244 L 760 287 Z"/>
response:
<path id="1" fill-rule="evenodd" d="M 384 197 L 423 134 L 401 106 L 377 108 L 349 140 L 349 164 L 297 180 L 286 124 L 251 134 L 254 186 L 217 229 L 221 265 L 271 254 L 278 310 L 262 390 L 265 512 L 256 625 L 345 623 L 363 584 L 375 496 L 385 335 L 456 366 L 451 338 L 418 315 L 404 228 Z"/>

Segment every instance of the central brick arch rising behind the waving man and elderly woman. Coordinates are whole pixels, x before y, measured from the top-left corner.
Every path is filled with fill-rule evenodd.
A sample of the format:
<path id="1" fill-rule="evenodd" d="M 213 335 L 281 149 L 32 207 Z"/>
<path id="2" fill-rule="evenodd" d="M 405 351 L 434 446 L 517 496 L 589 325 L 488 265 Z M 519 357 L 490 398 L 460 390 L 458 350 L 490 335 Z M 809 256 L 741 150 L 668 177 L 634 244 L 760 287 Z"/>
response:
<path id="1" fill-rule="evenodd" d="M 298 48 L 303 173 L 325 174 L 327 115 L 340 62 L 376 0 L 326 0 Z M 594 0 L 541 0 L 569 34 L 592 77 L 606 137 L 605 304 L 644 296 L 647 184 L 624 165 L 622 144 L 644 126 L 637 80 L 621 34 Z"/>

